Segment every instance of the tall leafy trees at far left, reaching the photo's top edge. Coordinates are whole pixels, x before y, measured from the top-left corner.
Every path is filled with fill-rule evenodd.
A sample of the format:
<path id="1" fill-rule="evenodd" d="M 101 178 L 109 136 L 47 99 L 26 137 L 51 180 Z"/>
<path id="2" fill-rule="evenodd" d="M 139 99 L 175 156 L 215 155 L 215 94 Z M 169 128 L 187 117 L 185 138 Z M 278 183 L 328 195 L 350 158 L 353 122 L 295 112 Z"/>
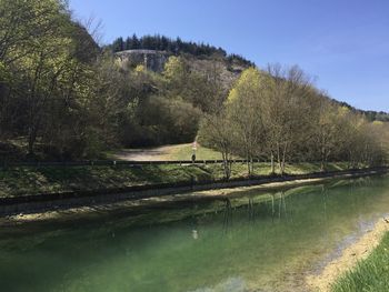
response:
<path id="1" fill-rule="evenodd" d="M 97 46 L 62 1 L 0 6 L 0 61 L 8 75 L 0 81 L 0 137 L 26 135 L 30 157 L 37 142 L 60 157 L 78 157 L 84 149 L 77 145 L 89 141 L 86 105 L 92 99 Z"/>

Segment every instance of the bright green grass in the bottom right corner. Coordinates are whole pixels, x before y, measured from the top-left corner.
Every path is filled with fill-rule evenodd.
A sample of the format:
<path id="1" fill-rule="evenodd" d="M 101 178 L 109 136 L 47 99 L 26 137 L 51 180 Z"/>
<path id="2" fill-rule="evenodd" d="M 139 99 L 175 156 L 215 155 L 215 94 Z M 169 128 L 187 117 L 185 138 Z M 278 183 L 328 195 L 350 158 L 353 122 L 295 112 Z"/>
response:
<path id="1" fill-rule="evenodd" d="M 389 232 L 377 249 L 333 285 L 333 292 L 389 291 Z"/>

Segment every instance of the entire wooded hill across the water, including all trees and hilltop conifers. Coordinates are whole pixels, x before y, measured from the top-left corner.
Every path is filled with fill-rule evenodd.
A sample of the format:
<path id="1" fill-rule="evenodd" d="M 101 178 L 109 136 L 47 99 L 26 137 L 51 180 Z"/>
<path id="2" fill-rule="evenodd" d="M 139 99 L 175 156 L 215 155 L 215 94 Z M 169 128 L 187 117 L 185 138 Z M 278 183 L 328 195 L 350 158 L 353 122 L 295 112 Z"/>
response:
<path id="1" fill-rule="evenodd" d="M 285 159 L 295 161 L 323 159 L 312 140 L 323 129 L 351 129 L 331 139 L 355 133 L 351 138 L 360 139 L 361 145 L 375 141 L 367 147 L 379 148 L 376 154 L 389 144 L 389 138 L 377 142 L 389 133 L 389 123 L 372 128 L 369 123 L 388 120 L 387 114 L 363 112 L 362 117 L 355 109 L 333 105 L 306 82 L 297 67 L 275 66 L 265 72 L 221 48 L 158 34 L 119 38 L 108 50 L 99 48 L 72 19 L 64 0 L 3 0 L 0 11 L 0 163 L 96 159 L 112 148 L 192 142 L 201 137 L 201 129 L 202 137 L 212 130 L 208 131 L 212 148 L 218 148 L 217 142 L 223 147 L 232 142 L 233 154 L 247 155 L 248 147 L 260 145 L 263 149 L 251 149 L 252 154 L 269 158 L 275 147 L 283 145 L 293 151 Z M 143 58 L 131 63 L 126 56 L 133 51 Z M 159 70 L 150 70 L 153 54 L 158 54 L 156 62 L 163 59 Z M 290 92 L 290 87 L 298 90 L 280 94 Z M 261 121 L 268 124 L 257 128 Z M 269 129 L 281 132 L 266 138 Z M 248 145 L 251 137 L 255 140 Z M 287 141 L 275 141 L 277 137 Z M 211 142 L 213 138 L 226 140 Z M 339 143 L 346 145 L 340 139 L 331 147 Z M 352 141 L 350 149 L 356 144 Z M 335 150 L 330 159 L 353 155 Z"/>

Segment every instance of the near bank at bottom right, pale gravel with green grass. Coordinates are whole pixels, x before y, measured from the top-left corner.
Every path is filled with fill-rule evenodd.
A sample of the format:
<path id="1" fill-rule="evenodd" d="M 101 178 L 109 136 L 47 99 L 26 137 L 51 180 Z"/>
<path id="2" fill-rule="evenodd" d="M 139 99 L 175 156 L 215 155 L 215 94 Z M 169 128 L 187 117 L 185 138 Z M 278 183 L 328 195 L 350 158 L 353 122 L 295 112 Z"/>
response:
<path id="1" fill-rule="evenodd" d="M 329 291 L 362 291 L 363 283 L 370 286 L 369 291 L 387 291 L 371 289 L 375 283 L 370 281 L 373 278 L 373 273 L 377 272 L 377 266 L 371 269 L 369 262 L 363 262 L 368 256 L 375 256 L 372 253 L 387 252 L 382 246 L 380 250 L 376 248 L 380 244 L 385 234 L 389 231 L 389 224 L 386 219 L 379 220 L 375 226 L 367 231 L 367 233 L 360 238 L 357 242 L 347 246 L 341 256 L 332 260 L 328 263 L 320 274 L 307 276 L 307 284 L 312 291 L 329 292 Z M 389 243 L 389 235 L 386 236 L 386 246 Z M 373 260 L 372 260 L 373 261 Z M 383 266 L 382 266 L 383 265 Z M 386 270 L 387 261 L 381 263 L 381 269 Z M 361 270 L 365 271 L 365 275 L 357 275 Z M 369 269 L 370 268 L 370 269 Z M 356 269 L 356 270 L 355 270 Z M 366 278 L 363 280 L 363 276 Z M 382 276 L 382 274 L 377 278 Z M 381 282 L 386 282 L 387 279 L 381 279 Z M 381 283 L 381 284 L 382 284 Z M 377 283 L 376 283 L 377 284 Z M 366 288 L 366 286 L 365 286 Z M 365 290 L 363 290 L 365 291 Z"/>

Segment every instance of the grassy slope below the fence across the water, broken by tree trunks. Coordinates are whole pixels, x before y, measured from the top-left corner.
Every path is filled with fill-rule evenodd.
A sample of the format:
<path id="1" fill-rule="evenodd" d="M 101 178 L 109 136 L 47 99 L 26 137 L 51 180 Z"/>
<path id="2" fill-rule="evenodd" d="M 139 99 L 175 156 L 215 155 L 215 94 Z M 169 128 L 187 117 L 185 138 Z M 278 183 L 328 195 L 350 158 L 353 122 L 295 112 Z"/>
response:
<path id="1" fill-rule="evenodd" d="M 331 163 L 328 170 L 345 170 L 346 163 Z M 288 165 L 287 173 L 300 174 L 319 171 L 316 163 Z M 269 163 L 255 163 L 255 175 L 270 173 Z M 247 177 L 247 165 L 235 163 L 232 178 Z M 86 167 L 19 167 L 0 170 L 0 198 L 90 191 L 131 185 L 218 180 L 223 178 L 221 164 L 198 165 L 86 165 Z"/>

